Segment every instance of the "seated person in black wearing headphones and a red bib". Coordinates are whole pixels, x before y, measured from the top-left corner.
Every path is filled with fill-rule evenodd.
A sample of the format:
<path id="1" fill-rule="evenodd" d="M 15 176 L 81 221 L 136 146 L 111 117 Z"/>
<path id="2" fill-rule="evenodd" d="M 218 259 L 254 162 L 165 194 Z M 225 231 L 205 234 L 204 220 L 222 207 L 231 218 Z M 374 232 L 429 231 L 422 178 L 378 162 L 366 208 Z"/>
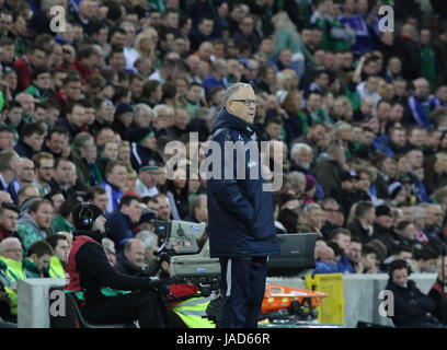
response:
<path id="1" fill-rule="evenodd" d="M 94 205 L 73 210 L 73 243 L 67 258 L 66 292 L 74 292 L 85 319 L 95 324 L 130 323 L 141 328 L 183 325 L 163 304 L 165 282 L 117 272 L 101 241 L 105 218 Z M 131 291 L 131 292 L 124 292 Z"/>

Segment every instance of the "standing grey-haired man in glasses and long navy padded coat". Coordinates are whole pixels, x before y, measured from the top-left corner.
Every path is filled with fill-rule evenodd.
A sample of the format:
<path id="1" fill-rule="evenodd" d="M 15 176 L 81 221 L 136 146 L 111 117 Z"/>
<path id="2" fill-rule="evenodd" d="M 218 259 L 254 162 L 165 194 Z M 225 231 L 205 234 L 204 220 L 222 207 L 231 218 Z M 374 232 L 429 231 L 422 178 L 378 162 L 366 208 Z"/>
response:
<path id="1" fill-rule="evenodd" d="M 265 292 L 267 257 L 279 254 L 272 192 L 263 190 L 266 182 L 261 176 L 261 158 L 257 152 L 247 151 L 248 142 L 254 136 L 252 122 L 255 109 L 252 88 L 237 83 L 227 90 L 225 107 L 211 127 L 211 141 L 218 143 L 221 158 L 217 156 L 219 152 L 208 152 L 213 172 L 207 180 L 209 247 L 210 256 L 219 257 L 221 266 L 222 328 L 257 326 Z M 245 160 L 239 167 L 236 151 L 232 152 L 232 164 L 225 156 L 226 142 L 233 144 L 238 141 L 245 145 Z M 257 167 L 256 174 L 252 175 L 253 166 Z M 237 176 L 241 168 L 245 179 Z M 233 175 L 231 179 L 226 179 L 228 172 Z"/>

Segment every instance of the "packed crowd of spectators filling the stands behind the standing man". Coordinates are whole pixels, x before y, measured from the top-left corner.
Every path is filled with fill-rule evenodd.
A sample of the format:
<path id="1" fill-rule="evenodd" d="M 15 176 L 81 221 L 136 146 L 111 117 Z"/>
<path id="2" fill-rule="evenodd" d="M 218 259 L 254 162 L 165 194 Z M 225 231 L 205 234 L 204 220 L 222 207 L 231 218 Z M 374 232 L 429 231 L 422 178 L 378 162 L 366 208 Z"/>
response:
<path id="1" fill-rule="evenodd" d="M 51 31 L 56 4 L 64 32 Z M 379 28 L 383 4 L 394 32 Z M 0 303 L 14 304 L 11 279 L 64 275 L 79 201 L 107 217 L 108 250 L 139 266 L 157 248 L 152 219 L 207 222 L 204 173 L 167 176 L 165 145 L 203 161 L 234 82 L 256 93 L 257 140 L 283 151 L 277 233 L 318 233 L 316 273 L 398 259 L 435 272 L 447 243 L 443 19 L 443 0 L 1 0 Z"/>

